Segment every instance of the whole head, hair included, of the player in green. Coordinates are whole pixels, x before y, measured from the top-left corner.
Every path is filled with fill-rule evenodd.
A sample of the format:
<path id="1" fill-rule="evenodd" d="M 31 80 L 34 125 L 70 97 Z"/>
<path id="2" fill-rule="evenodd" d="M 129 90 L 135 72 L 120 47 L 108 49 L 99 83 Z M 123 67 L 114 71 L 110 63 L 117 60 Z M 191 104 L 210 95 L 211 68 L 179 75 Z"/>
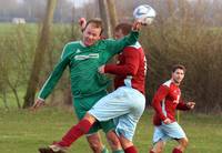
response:
<path id="1" fill-rule="evenodd" d="M 85 28 L 83 29 L 83 43 L 89 47 L 94 44 L 103 31 L 102 21 L 98 18 L 91 19 L 87 22 Z"/>

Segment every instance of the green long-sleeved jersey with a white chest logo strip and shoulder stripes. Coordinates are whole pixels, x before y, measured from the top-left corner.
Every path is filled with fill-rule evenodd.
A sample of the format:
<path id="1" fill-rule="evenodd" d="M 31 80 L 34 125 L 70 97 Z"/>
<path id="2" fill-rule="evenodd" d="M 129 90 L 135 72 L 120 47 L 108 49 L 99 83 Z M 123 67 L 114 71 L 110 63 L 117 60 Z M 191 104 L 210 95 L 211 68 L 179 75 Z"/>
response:
<path id="1" fill-rule="evenodd" d="M 81 41 L 65 44 L 60 61 L 39 93 L 39 99 L 47 99 L 67 67 L 70 70 L 74 98 L 89 96 L 107 89 L 110 81 L 98 72 L 98 68 L 105 64 L 124 47 L 135 43 L 138 37 L 139 32 L 132 31 L 121 40 L 99 40 L 90 47 L 85 47 Z"/>

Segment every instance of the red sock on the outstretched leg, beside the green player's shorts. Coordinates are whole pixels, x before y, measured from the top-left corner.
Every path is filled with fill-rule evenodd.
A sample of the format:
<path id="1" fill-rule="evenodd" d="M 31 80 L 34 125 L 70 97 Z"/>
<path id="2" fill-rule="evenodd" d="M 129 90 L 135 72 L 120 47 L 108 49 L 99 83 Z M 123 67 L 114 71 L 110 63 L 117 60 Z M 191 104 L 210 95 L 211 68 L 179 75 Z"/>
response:
<path id="1" fill-rule="evenodd" d="M 91 126 L 92 124 L 88 120 L 81 120 L 77 125 L 72 126 L 62 137 L 62 141 L 57 144 L 60 146 L 70 146 L 75 140 L 85 134 Z"/>

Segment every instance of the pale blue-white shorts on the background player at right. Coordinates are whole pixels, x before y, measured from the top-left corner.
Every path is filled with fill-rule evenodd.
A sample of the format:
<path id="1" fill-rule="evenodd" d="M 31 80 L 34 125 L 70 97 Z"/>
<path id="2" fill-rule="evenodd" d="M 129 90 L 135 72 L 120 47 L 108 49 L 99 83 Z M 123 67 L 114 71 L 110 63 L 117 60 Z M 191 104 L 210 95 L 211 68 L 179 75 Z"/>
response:
<path id="1" fill-rule="evenodd" d="M 173 122 L 170 124 L 162 124 L 160 126 L 154 128 L 153 133 L 153 143 L 158 141 L 167 141 L 170 139 L 183 139 L 186 137 L 183 129 L 178 124 L 178 122 Z"/>

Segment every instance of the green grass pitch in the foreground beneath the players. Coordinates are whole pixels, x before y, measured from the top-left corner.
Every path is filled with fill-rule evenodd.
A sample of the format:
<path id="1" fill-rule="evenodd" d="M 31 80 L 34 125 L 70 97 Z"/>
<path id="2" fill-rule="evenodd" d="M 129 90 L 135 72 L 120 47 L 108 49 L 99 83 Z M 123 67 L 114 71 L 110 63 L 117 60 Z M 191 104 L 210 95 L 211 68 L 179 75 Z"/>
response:
<path id="1" fill-rule="evenodd" d="M 152 143 L 151 114 L 144 112 L 135 132 L 134 144 L 140 153 L 147 153 Z M 59 140 L 73 123 L 77 123 L 74 114 L 62 109 L 44 108 L 37 112 L 0 109 L 0 152 L 37 153 L 39 146 Z M 188 153 L 221 152 L 222 116 L 182 113 L 181 125 L 190 139 Z M 165 153 L 171 153 L 175 144 L 169 142 Z M 74 152 L 91 152 L 84 137 L 69 150 Z"/>

